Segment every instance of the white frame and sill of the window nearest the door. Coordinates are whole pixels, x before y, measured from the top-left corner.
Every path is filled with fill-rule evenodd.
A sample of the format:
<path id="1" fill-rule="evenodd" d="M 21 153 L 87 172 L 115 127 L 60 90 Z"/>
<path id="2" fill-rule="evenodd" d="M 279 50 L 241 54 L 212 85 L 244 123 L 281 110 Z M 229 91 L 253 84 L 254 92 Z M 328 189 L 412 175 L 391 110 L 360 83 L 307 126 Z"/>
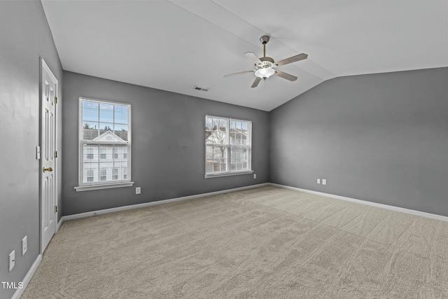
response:
<path id="1" fill-rule="evenodd" d="M 114 106 L 127 106 L 127 141 L 92 141 L 92 140 L 84 140 L 83 139 L 83 102 L 96 102 L 98 104 L 109 104 Z M 86 190 L 99 190 L 99 189 L 108 189 L 108 188 L 120 188 L 120 187 L 130 187 L 134 185 L 134 182 L 131 181 L 131 157 L 132 157 L 132 113 L 131 113 L 131 104 L 125 102 L 113 102 L 104 99 L 93 99 L 90 97 L 79 97 L 78 103 L 78 186 L 74 189 L 76 191 L 86 191 Z M 99 121 L 99 120 L 98 120 Z M 114 120 L 115 124 L 115 120 Z M 100 129 L 99 129 L 100 130 Z M 113 132 L 113 131 L 112 131 Z M 83 167 L 84 167 L 84 158 L 83 158 L 83 146 L 91 145 L 97 146 L 97 154 L 98 154 L 98 173 L 100 173 L 100 169 L 104 168 L 99 165 L 101 160 L 100 156 L 100 148 L 104 145 L 125 145 L 127 148 L 127 179 L 118 179 L 118 180 L 109 180 L 109 181 L 101 181 L 101 178 L 98 178 L 98 181 L 95 182 L 85 182 Z M 115 148 L 115 147 L 112 147 Z M 107 153 L 107 151 L 106 151 Z M 114 151 L 112 150 L 112 158 L 114 157 Z M 90 160 L 90 159 L 85 159 Z M 116 167 L 115 165 L 113 167 Z"/>

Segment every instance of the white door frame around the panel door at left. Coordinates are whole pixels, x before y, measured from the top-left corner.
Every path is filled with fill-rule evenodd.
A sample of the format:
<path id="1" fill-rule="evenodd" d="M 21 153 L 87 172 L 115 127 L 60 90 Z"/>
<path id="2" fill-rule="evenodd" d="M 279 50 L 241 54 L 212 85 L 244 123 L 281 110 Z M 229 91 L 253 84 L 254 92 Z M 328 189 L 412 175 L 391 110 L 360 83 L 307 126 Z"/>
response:
<path id="1" fill-rule="evenodd" d="M 48 72 L 48 74 L 50 75 L 50 77 L 52 78 L 52 81 L 54 81 L 56 83 L 56 88 L 55 88 L 55 97 L 58 98 L 59 101 L 59 80 L 57 80 L 56 76 L 52 73 L 50 67 L 48 67 L 48 64 L 45 63 L 45 60 L 43 60 L 42 57 L 40 57 L 39 59 L 39 148 L 42 148 L 42 137 L 43 137 L 43 127 L 42 127 L 42 106 L 43 106 L 43 97 L 42 97 L 42 81 L 43 81 L 43 72 L 46 71 Z M 58 151 L 57 149 L 57 145 L 58 145 L 58 132 L 59 132 L 59 126 L 57 124 L 58 121 L 58 113 L 57 113 L 57 102 L 55 102 L 55 151 Z M 53 153 L 54 154 L 54 153 Z M 39 152 L 39 155 L 41 155 L 41 153 Z M 54 169 L 54 184 L 55 184 L 55 206 L 57 207 L 58 205 L 58 174 L 59 174 L 59 163 L 57 158 L 55 158 L 55 169 Z M 43 205 L 43 199 L 42 199 L 42 179 L 43 179 L 43 175 L 42 175 L 42 167 L 43 167 L 43 159 L 42 157 L 39 157 L 39 252 L 42 254 L 43 251 L 45 250 L 45 248 L 43 248 L 43 233 L 42 233 L 42 205 Z M 57 232 L 57 215 L 59 213 L 59 209 L 57 209 L 57 211 L 55 211 L 55 233 Z"/>

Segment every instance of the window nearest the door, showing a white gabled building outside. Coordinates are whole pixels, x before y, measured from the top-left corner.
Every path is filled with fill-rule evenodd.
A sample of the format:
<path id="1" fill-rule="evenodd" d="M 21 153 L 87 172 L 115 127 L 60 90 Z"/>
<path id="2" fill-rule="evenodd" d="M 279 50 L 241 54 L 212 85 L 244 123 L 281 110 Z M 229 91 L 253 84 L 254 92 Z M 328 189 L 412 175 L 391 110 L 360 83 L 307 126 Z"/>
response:
<path id="1" fill-rule="evenodd" d="M 79 185 L 75 189 L 132 186 L 130 104 L 80 97 L 78 131 Z M 126 176 L 119 179 L 118 169 L 123 168 Z"/>

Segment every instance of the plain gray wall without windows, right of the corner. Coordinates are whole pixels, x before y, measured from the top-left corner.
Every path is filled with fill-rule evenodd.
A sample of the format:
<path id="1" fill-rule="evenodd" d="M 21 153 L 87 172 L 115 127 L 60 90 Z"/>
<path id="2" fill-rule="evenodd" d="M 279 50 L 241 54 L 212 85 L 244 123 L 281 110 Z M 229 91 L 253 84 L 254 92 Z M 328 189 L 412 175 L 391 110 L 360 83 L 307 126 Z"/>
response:
<path id="1" fill-rule="evenodd" d="M 283 104 L 270 181 L 448 216 L 447 83 L 448 68 L 341 77 Z"/>

